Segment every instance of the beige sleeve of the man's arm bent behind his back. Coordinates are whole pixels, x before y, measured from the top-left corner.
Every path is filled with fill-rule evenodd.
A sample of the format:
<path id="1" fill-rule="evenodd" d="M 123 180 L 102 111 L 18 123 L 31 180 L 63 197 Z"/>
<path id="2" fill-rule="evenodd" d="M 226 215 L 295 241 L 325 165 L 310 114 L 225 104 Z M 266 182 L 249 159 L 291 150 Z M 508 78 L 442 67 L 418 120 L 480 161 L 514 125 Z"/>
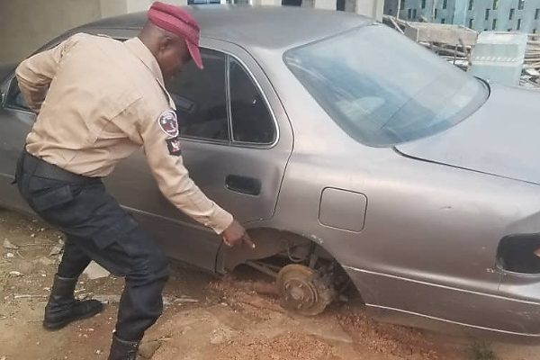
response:
<path id="1" fill-rule="evenodd" d="M 16 68 L 15 76 L 21 93 L 34 112 L 40 111 L 41 103 L 45 100 L 49 84 L 56 75 L 61 58 L 78 37 L 74 35 L 55 48 L 33 55 Z"/>

